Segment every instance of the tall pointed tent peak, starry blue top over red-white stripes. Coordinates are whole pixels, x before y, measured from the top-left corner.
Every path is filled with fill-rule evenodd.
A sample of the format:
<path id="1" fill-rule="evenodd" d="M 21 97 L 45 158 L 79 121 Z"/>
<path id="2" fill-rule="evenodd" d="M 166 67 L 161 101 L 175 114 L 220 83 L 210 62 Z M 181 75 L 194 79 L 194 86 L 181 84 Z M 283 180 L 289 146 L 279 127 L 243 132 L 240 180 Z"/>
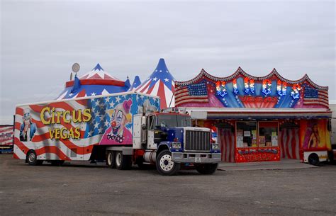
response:
<path id="1" fill-rule="evenodd" d="M 164 59 L 159 59 L 157 68 L 135 91 L 159 96 L 161 108 L 174 107 L 174 81 Z"/>

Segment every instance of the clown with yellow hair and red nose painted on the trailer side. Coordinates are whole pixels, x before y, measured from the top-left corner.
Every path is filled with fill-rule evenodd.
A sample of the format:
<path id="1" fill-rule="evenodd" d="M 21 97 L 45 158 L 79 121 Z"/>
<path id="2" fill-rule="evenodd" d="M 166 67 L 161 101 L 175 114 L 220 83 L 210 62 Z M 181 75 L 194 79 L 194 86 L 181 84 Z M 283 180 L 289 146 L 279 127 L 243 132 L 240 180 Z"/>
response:
<path id="1" fill-rule="evenodd" d="M 106 130 L 100 144 L 132 144 L 132 133 L 125 127 L 128 123 L 132 123 L 131 106 L 132 100 L 129 99 L 108 110 L 111 127 Z"/>

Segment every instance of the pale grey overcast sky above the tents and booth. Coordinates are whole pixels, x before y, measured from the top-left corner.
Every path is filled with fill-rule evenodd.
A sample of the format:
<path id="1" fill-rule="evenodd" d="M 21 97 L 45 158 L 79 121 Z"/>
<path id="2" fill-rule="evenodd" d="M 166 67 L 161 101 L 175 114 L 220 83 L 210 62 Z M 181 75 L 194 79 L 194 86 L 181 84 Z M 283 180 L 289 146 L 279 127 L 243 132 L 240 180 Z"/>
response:
<path id="1" fill-rule="evenodd" d="M 308 74 L 335 94 L 334 1 L 1 1 L 0 124 L 16 104 L 50 101 L 74 62 L 144 81 L 159 58 L 178 81 L 237 67 Z"/>

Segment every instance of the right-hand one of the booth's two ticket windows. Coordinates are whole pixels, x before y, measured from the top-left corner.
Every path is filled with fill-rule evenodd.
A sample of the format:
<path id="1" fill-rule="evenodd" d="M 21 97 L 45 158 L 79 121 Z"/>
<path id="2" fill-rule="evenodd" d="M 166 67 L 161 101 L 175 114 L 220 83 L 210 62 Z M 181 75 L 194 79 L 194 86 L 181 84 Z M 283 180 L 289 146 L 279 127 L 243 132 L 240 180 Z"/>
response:
<path id="1" fill-rule="evenodd" d="M 277 147 L 278 136 L 277 122 L 259 122 L 259 147 Z"/>

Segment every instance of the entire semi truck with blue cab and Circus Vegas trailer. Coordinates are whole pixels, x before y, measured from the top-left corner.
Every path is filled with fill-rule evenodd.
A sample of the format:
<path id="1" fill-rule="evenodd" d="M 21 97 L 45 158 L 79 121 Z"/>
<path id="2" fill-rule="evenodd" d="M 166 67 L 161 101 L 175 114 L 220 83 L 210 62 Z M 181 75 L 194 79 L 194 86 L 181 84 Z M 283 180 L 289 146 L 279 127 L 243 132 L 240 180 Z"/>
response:
<path id="1" fill-rule="evenodd" d="M 159 97 L 125 92 L 16 106 L 13 157 L 106 161 L 111 168 L 155 164 L 162 175 L 184 167 L 213 174 L 220 161 L 211 130 L 191 127 L 184 110 L 159 109 Z"/>

